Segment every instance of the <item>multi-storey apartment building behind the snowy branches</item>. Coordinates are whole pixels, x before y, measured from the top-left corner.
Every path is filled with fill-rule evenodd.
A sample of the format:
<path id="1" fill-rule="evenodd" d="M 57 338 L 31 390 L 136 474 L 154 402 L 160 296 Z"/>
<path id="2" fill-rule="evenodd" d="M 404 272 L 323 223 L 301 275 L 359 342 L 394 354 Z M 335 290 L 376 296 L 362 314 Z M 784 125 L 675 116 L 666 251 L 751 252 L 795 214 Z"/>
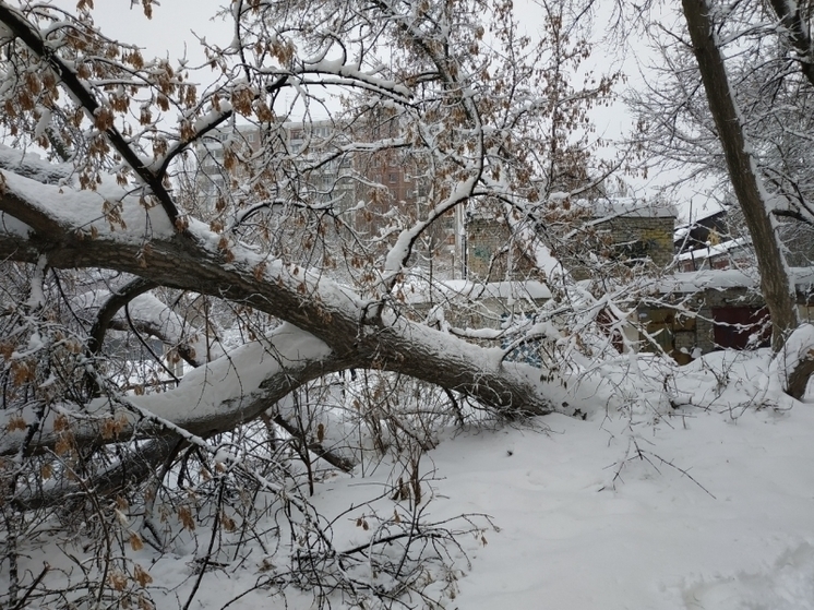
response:
<path id="1" fill-rule="evenodd" d="M 352 127 L 323 120 L 283 122 L 261 131 L 240 125 L 207 134 L 195 146 L 196 193 L 214 210 L 218 198 L 246 188 L 240 155 L 265 155 L 273 169 L 266 190 L 282 202 L 331 210 L 348 229 L 364 238 L 397 235 L 394 227 L 423 217 L 430 195 L 426 164 L 412 151 L 375 149 L 386 133 L 364 123 Z M 362 143 L 361 146 L 354 145 Z M 370 143 L 370 146 L 364 145 Z M 231 153 L 230 153 L 231 151 Z M 229 159 L 229 155 L 235 156 Z M 434 265 L 443 273 L 455 266 L 455 218 L 446 215 L 421 236 L 411 265 Z"/>

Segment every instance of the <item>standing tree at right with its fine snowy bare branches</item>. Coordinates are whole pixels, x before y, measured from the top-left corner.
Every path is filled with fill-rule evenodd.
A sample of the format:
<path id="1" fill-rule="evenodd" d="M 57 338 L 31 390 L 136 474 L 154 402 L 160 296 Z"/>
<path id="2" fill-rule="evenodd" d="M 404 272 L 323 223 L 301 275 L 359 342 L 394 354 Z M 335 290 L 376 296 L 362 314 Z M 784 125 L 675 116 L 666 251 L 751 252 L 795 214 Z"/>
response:
<path id="1" fill-rule="evenodd" d="M 648 70 L 659 76 L 632 97 L 641 144 L 686 180 L 711 176 L 734 194 L 779 352 L 799 325 L 787 246 L 814 219 L 809 3 L 686 1 L 683 32 L 672 15 L 663 8 L 649 22 L 660 58 Z M 791 394 L 801 395 L 810 372 L 791 374 Z"/>

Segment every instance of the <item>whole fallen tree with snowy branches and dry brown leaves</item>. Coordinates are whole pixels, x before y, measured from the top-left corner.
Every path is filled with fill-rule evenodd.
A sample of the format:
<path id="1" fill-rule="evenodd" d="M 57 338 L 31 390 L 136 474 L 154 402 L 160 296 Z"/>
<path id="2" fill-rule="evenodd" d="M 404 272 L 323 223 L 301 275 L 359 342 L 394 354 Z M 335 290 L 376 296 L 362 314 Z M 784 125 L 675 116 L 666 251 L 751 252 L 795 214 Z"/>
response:
<path id="1" fill-rule="evenodd" d="M 567 13 L 566 4 L 559 10 Z M 224 76 L 199 99 L 183 70 L 173 71 L 166 61 L 145 65 L 137 48 L 108 40 L 93 29 L 83 29 L 87 40 L 63 37 L 60 28 L 50 27 L 53 21 L 47 11 L 0 1 L 9 74 L 20 74 L 20 67 L 31 63 L 26 74 L 37 75 L 12 80 L 7 87 L 8 108 L 14 110 L 4 119 L 9 129 L 28 130 L 26 136 L 44 148 L 61 140 L 79 151 L 74 167 L 64 171 L 53 164 L 26 160 L 8 148 L 0 151 L 0 256 L 41 270 L 131 274 L 141 278 L 129 289 L 133 295 L 160 287 L 214 297 L 285 321 L 302 334 L 303 342 L 311 337 L 326 346 L 324 352 L 295 355 L 288 338 L 272 333 L 260 339 L 263 351 L 270 362 L 275 354 L 285 357 L 259 372 L 256 384 L 236 386 L 232 395 L 216 399 L 217 393 L 210 395 L 203 382 L 199 390 L 212 408 L 203 415 L 194 405 L 159 409 L 154 431 L 165 426 L 175 434 L 180 428 L 206 439 L 252 420 L 303 383 L 354 368 L 398 372 L 508 416 L 558 408 L 563 402 L 558 373 L 507 361 L 501 348 L 466 342 L 422 323 L 420 315 L 408 314 L 409 308 L 403 307 L 399 286 L 409 277 L 409 261 L 420 238 L 454 208 L 486 206 L 496 200 L 524 217 L 539 214 L 540 187 L 530 178 L 547 163 L 546 151 L 554 155 L 559 149 L 544 132 L 546 122 L 558 117 L 562 125 L 584 124 L 585 109 L 607 95 L 612 83 L 598 79 L 591 88 L 571 91 L 563 67 L 578 63 L 575 58 L 586 56 L 587 43 L 568 36 L 553 50 L 544 40 L 528 46 L 528 40 L 515 39 L 512 8 L 504 2 L 416 8 L 375 2 L 359 11 L 346 11 L 344 2 L 295 2 L 294 12 L 283 4 L 264 5 L 262 12 L 240 7 L 231 15 L 239 23 L 240 38 L 226 50 L 206 49 L 212 64 L 224 68 Z M 72 22 L 80 29 L 92 20 L 87 5 L 81 11 L 84 21 Z M 297 11 L 323 20 L 325 27 L 303 26 Z M 490 45 L 505 46 L 508 56 L 482 45 L 483 11 L 500 32 Z M 549 16 L 553 31 L 565 26 L 562 14 Z M 370 34 L 375 44 L 356 40 L 360 27 L 376 29 L 378 34 Z M 340 36 L 356 40 L 356 55 Z M 302 57 L 295 53 L 302 44 L 298 37 L 308 40 L 302 48 L 310 49 Z M 397 40 L 399 52 L 388 45 L 380 49 L 380 39 Z M 264 51 L 267 40 L 273 44 Z M 376 56 L 382 50 L 391 55 L 387 77 Z M 259 53 L 256 65 L 247 63 L 252 53 Z M 110 57 L 99 59 L 106 56 Z M 330 59 L 334 57 L 338 59 Z M 550 76 L 558 87 L 553 104 L 542 88 L 538 91 L 547 74 L 541 58 L 553 67 Z M 232 61 L 241 67 L 240 77 L 226 69 Z M 363 65 L 376 68 L 363 70 Z M 351 110 L 337 121 L 336 125 L 345 127 L 336 129 L 324 149 L 295 149 L 272 110 L 282 101 L 277 95 L 282 88 L 291 88 L 309 101 L 312 85 L 345 92 Z M 68 109 L 57 101 L 60 89 L 69 94 Z M 172 111 L 178 132 L 157 131 L 157 115 Z M 287 111 L 290 108 L 283 113 Z M 251 122 L 252 136 L 263 140 L 261 148 L 240 148 L 242 142 L 229 140 L 242 137 L 235 124 L 237 115 Z M 556 141 L 567 139 L 562 125 Z M 227 133 L 231 135 L 224 141 Z M 188 206 L 173 187 L 176 164 L 185 153 L 196 155 L 199 165 L 213 160 L 207 146 L 215 144 L 223 153 L 224 189 L 214 210 Z M 416 160 L 428 186 L 426 201 L 410 206 L 395 201 L 379 211 L 383 186 L 356 168 L 382 154 Z M 345 166 L 351 169 L 348 179 L 370 189 L 359 191 L 362 201 L 351 211 L 313 194 L 319 189 L 310 172 L 343 158 L 352 159 Z M 579 163 L 587 163 L 585 153 Z M 358 230 L 348 219 L 356 212 L 379 214 L 380 226 Z M 195 213 L 201 217 L 195 218 Z M 319 220 L 315 228 L 309 225 L 313 218 Z M 325 225 L 331 223 L 336 232 L 328 243 Z M 313 246 L 318 242 L 321 251 Z M 345 276 L 333 279 L 339 265 Z M 98 355 L 100 337 L 112 324 L 117 299 L 109 303 L 89 330 L 92 357 Z M 158 332 L 151 331 L 149 324 L 140 328 Z M 553 338 L 559 339 L 556 333 Z M 202 351 L 192 358 L 194 363 L 206 360 Z M 223 362 L 206 368 L 217 367 L 229 369 Z M 196 371 L 193 378 L 201 382 L 201 374 Z M 105 394 L 99 392 L 103 381 L 91 380 L 92 394 Z M 184 380 L 163 396 L 167 400 L 177 396 L 184 404 L 192 383 Z M 137 404 L 145 400 L 151 398 L 119 406 L 139 412 Z M 145 430 L 140 427 L 139 434 L 148 435 Z M 26 452 L 36 452 L 56 442 L 48 430 L 37 432 L 36 438 L 9 435 L 3 451 L 13 453 L 22 442 Z M 74 432 L 94 442 L 93 426 Z"/>

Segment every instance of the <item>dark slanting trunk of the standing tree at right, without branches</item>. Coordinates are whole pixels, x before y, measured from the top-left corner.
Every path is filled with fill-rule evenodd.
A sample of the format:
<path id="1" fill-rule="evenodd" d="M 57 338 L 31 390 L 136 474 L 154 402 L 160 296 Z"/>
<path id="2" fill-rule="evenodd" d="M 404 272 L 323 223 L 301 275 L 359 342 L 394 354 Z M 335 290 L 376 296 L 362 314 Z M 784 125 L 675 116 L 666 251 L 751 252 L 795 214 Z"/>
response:
<path id="1" fill-rule="evenodd" d="M 682 0 L 682 4 L 729 178 L 754 243 L 761 289 L 771 315 L 771 349 L 777 352 L 799 324 L 794 286 L 771 222 L 766 191 L 743 134 L 741 115 L 716 39 L 709 2 Z"/>

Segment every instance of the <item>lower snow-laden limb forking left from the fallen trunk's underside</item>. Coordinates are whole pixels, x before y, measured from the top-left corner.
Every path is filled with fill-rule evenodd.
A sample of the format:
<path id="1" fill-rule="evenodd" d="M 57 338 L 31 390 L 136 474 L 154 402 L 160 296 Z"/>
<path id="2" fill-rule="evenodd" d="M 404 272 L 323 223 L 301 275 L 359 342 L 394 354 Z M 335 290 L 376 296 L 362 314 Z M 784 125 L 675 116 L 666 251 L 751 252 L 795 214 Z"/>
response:
<path id="1" fill-rule="evenodd" d="M 167 392 L 96 398 L 81 407 L 63 403 L 40 423 L 27 446 L 25 430 L 7 432 L 0 439 L 0 455 L 21 450 L 37 453 L 56 446 L 67 434 L 77 446 L 167 434 L 206 439 L 252 421 L 300 384 L 346 366 L 323 342 L 284 324 L 263 340 L 193 370 Z M 58 423 L 60 416 L 73 422 L 69 429 Z M 0 427 L 4 428 L 10 417 L 20 414 L 2 414 Z M 34 407 L 25 409 L 22 417 L 33 421 Z M 118 422 L 120 431 L 105 438 L 104 424 L 110 420 Z"/>

